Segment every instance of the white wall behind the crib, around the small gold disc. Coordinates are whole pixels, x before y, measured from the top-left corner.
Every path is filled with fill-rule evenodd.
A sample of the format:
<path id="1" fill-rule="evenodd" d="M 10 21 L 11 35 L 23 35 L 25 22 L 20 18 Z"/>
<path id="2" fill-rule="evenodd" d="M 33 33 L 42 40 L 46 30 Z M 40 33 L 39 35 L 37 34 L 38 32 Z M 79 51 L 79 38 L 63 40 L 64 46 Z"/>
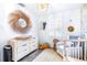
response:
<path id="1" fill-rule="evenodd" d="M 80 9 L 81 4 L 51 4 L 45 14 L 40 14 L 40 42 L 47 42 L 53 47 L 53 39 L 69 39 L 69 35 L 80 35 Z M 69 23 L 69 21 L 72 23 Z M 42 22 L 46 21 L 46 30 L 41 30 Z M 75 26 L 74 33 L 67 32 L 68 25 Z"/>

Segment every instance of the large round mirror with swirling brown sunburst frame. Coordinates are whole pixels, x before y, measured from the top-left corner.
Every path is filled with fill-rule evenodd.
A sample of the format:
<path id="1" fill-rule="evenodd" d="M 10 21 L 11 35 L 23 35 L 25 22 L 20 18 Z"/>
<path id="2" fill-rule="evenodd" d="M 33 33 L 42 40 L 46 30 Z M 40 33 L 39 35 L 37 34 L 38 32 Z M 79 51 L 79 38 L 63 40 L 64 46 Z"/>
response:
<path id="1" fill-rule="evenodd" d="M 30 18 L 20 10 L 15 10 L 9 14 L 9 24 L 14 31 L 21 33 L 28 32 L 32 26 Z"/>

